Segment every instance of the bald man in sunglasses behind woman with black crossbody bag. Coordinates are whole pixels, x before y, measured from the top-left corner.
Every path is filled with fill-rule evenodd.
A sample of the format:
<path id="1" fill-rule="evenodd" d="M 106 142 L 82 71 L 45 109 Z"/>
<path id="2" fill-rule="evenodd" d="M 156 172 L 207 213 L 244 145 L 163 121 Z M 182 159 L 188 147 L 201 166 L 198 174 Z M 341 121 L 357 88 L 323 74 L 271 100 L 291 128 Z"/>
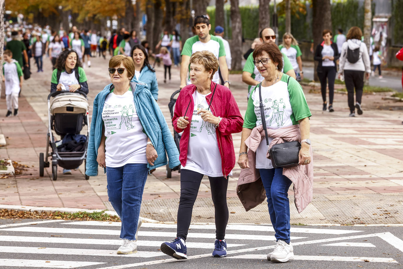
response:
<path id="1" fill-rule="evenodd" d="M 264 28 L 260 31 L 260 41 L 264 43 L 268 42 L 275 42 L 276 41 L 276 34 L 274 33 L 273 29 L 270 27 Z M 242 81 L 246 83 L 248 86 L 248 98 L 251 92 L 252 86 L 258 85 L 260 81 L 263 80 L 263 77 L 260 75 L 258 69 L 253 64 L 253 53 L 249 54 L 248 58 L 246 59 L 245 66 L 243 67 L 242 72 Z M 293 66 L 290 63 L 288 57 L 283 53 L 283 72 L 293 78 L 297 78 L 295 75 Z"/>

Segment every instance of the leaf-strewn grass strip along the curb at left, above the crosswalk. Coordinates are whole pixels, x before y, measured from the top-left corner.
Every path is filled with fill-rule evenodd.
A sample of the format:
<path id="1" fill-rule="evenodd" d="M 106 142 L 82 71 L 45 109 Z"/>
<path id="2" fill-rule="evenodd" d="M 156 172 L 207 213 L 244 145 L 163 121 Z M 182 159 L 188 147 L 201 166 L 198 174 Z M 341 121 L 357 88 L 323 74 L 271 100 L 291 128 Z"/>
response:
<path id="1" fill-rule="evenodd" d="M 104 214 L 105 210 L 99 212 L 88 213 L 87 211 L 77 213 L 64 212 L 41 212 L 33 211 L 17 211 L 2 209 L 0 211 L 0 219 L 65 219 L 77 221 L 120 221 L 118 216 Z"/>

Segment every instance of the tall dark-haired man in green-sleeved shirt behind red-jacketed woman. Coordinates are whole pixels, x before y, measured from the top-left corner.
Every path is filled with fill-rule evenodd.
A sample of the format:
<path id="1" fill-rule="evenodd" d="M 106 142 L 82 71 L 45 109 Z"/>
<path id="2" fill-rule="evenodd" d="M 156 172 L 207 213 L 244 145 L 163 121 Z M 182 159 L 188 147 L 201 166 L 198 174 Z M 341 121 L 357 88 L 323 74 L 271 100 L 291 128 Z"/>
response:
<path id="1" fill-rule="evenodd" d="M 229 88 L 228 81 L 228 66 L 225 59 L 224 43 L 220 38 L 214 35 L 210 35 L 211 24 L 209 19 L 205 16 L 197 16 L 194 21 L 194 28 L 196 31 L 195 36 L 188 38 L 182 49 L 182 63 L 181 63 L 181 89 L 190 83 L 188 69 L 190 56 L 202 50 L 208 50 L 212 52 L 218 59 L 220 64 L 222 79 L 224 80 L 224 86 Z M 212 79 L 213 82 L 219 83 L 220 76 L 216 72 Z"/>

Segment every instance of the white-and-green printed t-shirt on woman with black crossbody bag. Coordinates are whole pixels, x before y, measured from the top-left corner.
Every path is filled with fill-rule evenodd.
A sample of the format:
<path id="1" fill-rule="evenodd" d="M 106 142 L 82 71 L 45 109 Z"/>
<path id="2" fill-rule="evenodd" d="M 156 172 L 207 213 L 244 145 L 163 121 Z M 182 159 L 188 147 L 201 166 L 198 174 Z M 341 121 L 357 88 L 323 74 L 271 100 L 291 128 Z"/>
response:
<path id="1" fill-rule="evenodd" d="M 301 85 L 294 78 L 283 74 L 281 80 L 269 87 L 262 87 L 262 101 L 264 106 L 264 117 L 266 118 L 266 127 L 268 129 L 278 129 L 298 124 L 298 121 L 306 117 L 311 117 L 311 111 L 305 99 Z M 253 88 L 248 100 L 248 106 L 243 122 L 244 128 L 253 129 L 262 125 L 260 115 L 259 87 Z M 269 137 L 269 143 L 273 138 Z M 273 168 L 270 159 L 266 158 L 267 145 L 266 139 L 262 139 L 256 150 L 256 168 Z"/>

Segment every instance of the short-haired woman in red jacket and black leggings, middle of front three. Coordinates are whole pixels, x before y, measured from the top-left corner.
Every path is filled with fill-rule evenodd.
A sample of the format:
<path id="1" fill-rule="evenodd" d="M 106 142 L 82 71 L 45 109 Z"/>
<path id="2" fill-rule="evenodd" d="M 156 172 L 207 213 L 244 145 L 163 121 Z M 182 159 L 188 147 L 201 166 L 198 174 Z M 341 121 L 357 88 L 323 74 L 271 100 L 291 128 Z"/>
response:
<path id="1" fill-rule="evenodd" d="M 176 259 L 186 259 L 186 237 L 193 204 L 204 175 L 210 179 L 215 209 L 216 241 L 212 256 L 226 256 L 225 229 L 228 222 L 226 190 L 235 166 L 232 133 L 242 131 L 243 119 L 229 88 L 212 82 L 218 60 L 206 50 L 190 58 L 190 80 L 175 104 L 174 129 L 183 131 L 180 142 L 181 198 L 177 238 L 164 242 L 161 251 Z"/>

